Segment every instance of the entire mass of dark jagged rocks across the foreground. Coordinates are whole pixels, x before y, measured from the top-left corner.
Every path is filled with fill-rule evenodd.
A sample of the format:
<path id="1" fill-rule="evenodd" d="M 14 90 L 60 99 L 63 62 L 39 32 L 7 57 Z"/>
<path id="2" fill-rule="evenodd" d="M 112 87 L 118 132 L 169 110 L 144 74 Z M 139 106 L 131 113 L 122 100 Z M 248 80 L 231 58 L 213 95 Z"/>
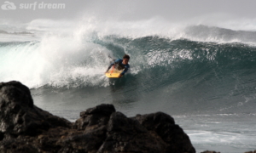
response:
<path id="1" fill-rule="evenodd" d="M 0 83 L 0 152 L 195 153 L 189 137 L 162 112 L 127 117 L 97 105 L 76 122 L 33 105 L 20 82 Z"/>

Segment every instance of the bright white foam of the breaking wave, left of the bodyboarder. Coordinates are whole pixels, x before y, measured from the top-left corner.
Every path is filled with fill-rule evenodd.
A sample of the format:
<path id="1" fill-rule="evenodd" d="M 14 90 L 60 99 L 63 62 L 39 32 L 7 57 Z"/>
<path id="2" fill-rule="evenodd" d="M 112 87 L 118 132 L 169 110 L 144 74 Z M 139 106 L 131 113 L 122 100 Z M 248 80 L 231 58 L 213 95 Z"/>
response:
<path id="1" fill-rule="evenodd" d="M 109 64 L 106 48 L 75 37 L 45 35 L 41 42 L 0 48 L 0 80 L 18 80 L 30 88 L 106 85 L 102 78 Z M 75 84 L 74 82 L 82 84 Z M 84 83 L 84 84 L 83 84 Z"/>

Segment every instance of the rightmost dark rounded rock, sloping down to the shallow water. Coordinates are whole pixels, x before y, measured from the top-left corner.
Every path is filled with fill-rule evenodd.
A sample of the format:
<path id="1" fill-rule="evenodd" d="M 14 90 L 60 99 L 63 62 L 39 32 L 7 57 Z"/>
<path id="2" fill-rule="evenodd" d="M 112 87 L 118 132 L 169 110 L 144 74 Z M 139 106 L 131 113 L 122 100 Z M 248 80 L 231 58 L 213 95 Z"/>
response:
<path id="1" fill-rule="evenodd" d="M 168 151 L 172 152 L 195 152 L 195 148 L 189 140 L 189 136 L 183 129 L 175 124 L 172 116 L 163 112 L 148 115 L 137 115 L 134 118 L 143 127 L 154 132 L 167 144 Z"/>

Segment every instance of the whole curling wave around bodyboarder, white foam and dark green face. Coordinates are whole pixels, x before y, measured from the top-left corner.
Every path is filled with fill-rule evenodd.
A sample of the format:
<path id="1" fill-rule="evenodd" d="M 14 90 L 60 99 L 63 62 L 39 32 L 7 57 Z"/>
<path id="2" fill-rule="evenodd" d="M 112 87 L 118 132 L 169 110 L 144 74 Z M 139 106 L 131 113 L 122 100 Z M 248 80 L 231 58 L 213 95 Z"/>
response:
<path id="1" fill-rule="evenodd" d="M 187 105 L 193 103 L 194 111 L 214 111 L 207 108 L 212 105 L 201 105 L 203 101 L 215 105 L 232 101 L 216 109 L 239 111 L 239 106 L 255 100 L 254 32 L 189 26 L 183 33 L 187 38 L 100 36 L 92 32 L 82 38 L 47 35 L 41 41 L 1 42 L 0 80 L 19 80 L 30 88 L 126 83 L 123 93 L 150 97 L 154 91 L 162 101 L 172 98 Z M 199 37 L 205 37 L 205 41 L 199 41 Z M 206 41 L 207 37 L 222 40 Z M 120 79 L 125 81 L 108 80 L 104 71 L 123 54 L 131 55 L 130 73 Z"/>

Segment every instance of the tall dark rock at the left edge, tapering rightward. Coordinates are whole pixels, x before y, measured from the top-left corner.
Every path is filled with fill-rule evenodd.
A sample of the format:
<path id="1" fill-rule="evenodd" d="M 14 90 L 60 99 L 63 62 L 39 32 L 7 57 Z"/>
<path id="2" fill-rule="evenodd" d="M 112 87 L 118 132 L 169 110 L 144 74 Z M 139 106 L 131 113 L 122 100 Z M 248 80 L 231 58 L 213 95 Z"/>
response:
<path id="1" fill-rule="evenodd" d="M 70 127 L 71 122 L 33 105 L 29 89 L 20 82 L 0 83 L 0 138 L 37 135 L 49 127 Z"/>

